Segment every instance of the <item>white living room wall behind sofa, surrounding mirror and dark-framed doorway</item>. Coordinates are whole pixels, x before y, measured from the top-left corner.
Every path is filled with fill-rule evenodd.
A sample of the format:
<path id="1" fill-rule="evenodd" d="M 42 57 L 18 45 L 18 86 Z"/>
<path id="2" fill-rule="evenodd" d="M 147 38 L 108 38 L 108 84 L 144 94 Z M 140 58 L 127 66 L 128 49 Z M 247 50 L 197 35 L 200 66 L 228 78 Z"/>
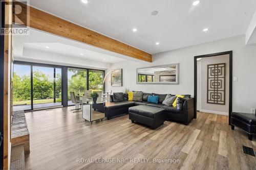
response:
<path id="1" fill-rule="evenodd" d="M 244 35 L 155 54 L 153 62 L 148 64 L 132 61 L 111 64 L 109 70 L 123 68 L 123 87 L 111 87 L 108 77 L 106 89 L 118 92 L 126 87 L 145 92 L 194 95 L 194 56 L 225 51 L 233 51 L 233 76 L 238 77 L 238 81 L 233 82 L 232 110 L 250 112 L 250 108 L 256 107 L 256 46 L 245 45 Z M 136 84 L 136 68 L 171 63 L 180 63 L 179 85 Z"/>

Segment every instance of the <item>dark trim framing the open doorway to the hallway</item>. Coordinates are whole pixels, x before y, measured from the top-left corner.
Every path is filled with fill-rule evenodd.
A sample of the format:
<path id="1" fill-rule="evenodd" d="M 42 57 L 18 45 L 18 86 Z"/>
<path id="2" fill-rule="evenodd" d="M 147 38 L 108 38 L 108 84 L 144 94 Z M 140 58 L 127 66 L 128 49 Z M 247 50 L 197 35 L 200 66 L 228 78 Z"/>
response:
<path id="1" fill-rule="evenodd" d="M 233 56 L 232 51 L 221 52 L 221 53 L 214 53 L 214 54 L 206 54 L 201 56 L 194 57 L 194 118 L 197 118 L 197 59 L 198 58 L 205 58 L 205 57 L 214 57 L 214 56 L 222 56 L 222 55 L 229 55 L 229 106 L 228 106 L 228 125 L 230 125 L 230 115 L 232 112 L 232 79 L 233 79 Z"/>

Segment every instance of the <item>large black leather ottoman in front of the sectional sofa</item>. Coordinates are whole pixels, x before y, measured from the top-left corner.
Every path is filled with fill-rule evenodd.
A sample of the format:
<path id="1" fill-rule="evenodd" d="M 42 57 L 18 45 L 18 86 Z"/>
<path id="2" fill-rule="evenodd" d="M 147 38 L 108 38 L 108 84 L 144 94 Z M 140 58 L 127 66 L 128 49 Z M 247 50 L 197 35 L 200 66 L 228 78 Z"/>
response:
<path id="1" fill-rule="evenodd" d="M 164 109 L 139 105 L 129 108 L 129 119 L 132 123 L 138 122 L 156 129 L 163 125 L 166 118 Z"/>

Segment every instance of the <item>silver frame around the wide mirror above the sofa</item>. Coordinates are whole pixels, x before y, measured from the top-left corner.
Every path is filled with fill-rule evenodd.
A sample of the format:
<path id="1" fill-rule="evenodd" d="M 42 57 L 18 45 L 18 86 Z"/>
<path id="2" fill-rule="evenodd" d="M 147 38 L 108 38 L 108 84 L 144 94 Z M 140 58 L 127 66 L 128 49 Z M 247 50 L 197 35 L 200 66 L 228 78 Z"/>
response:
<path id="1" fill-rule="evenodd" d="M 139 69 L 145 69 L 145 68 L 161 68 L 161 67 L 166 67 L 166 66 L 172 66 L 176 65 L 177 72 L 176 72 L 176 82 L 139 82 L 138 79 L 138 70 Z M 150 66 L 150 67 L 142 67 L 142 68 L 137 68 L 136 69 L 136 83 L 137 84 L 179 84 L 179 63 L 174 63 L 174 64 L 165 64 L 165 65 L 156 65 L 156 66 Z"/>

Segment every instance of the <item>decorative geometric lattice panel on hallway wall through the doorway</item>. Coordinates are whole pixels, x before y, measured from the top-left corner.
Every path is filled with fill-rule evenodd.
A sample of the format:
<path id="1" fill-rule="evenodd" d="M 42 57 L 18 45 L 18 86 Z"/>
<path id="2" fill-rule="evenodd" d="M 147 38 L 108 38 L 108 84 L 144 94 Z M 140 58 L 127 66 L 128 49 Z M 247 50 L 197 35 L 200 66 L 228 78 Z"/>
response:
<path id="1" fill-rule="evenodd" d="M 226 64 L 207 65 L 207 103 L 225 105 Z"/>

